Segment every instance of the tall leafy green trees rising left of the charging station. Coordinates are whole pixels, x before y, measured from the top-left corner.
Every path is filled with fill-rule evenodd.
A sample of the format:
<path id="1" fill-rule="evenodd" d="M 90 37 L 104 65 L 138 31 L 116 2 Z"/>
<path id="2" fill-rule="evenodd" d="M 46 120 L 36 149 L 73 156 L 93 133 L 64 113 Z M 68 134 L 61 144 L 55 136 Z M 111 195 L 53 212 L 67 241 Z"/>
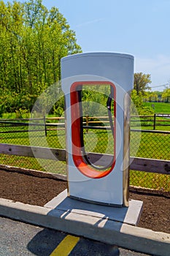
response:
<path id="1" fill-rule="evenodd" d="M 18 95 L 38 97 L 61 78 L 63 56 L 81 52 L 72 31 L 58 9 L 42 0 L 0 1 L 0 89 L 2 98 Z M 6 89 L 6 90 L 4 90 Z M 7 109 L 18 109 L 12 97 Z M 2 100 L 1 98 L 1 100 Z M 20 108 L 31 108 L 32 100 Z M 2 101 L 0 101 L 0 105 Z M 3 102 L 4 104 L 4 102 Z"/>

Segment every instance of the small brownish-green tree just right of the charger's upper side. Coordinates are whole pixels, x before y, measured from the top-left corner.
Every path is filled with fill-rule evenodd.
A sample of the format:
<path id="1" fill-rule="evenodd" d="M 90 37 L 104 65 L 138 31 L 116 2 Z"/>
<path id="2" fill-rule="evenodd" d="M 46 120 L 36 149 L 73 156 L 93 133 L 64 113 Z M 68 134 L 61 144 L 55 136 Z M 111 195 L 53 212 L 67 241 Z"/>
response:
<path id="1" fill-rule="evenodd" d="M 150 89 L 150 86 L 148 86 L 148 84 L 151 82 L 152 81 L 149 74 L 143 74 L 142 72 L 134 74 L 134 89 L 136 90 L 138 95 L 139 92 L 144 95 L 144 91 Z"/>

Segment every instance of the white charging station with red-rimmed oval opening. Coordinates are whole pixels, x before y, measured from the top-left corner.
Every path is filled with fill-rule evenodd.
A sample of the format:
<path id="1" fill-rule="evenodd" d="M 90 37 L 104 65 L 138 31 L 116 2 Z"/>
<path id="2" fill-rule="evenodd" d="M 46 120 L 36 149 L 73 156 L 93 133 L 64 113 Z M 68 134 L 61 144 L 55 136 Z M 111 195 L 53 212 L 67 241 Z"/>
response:
<path id="1" fill-rule="evenodd" d="M 65 95 L 68 196 L 98 204 L 128 206 L 128 94 L 134 83 L 134 56 L 122 53 L 66 56 L 61 59 L 61 78 Z M 102 170 L 85 158 L 80 138 L 79 91 L 94 85 L 109 85 L 114 101 L 112 161 Z"/>

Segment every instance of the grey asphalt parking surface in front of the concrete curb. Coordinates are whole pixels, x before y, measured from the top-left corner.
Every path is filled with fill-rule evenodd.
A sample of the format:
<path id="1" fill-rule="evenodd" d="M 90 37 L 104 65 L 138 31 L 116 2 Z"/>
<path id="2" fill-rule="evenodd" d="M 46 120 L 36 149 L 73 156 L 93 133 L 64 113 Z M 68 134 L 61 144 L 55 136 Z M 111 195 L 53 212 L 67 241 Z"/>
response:
<path id="1" fill-rule="evenodd" d="M 77 237 L 75 246 L 69 254 L 66 253 L 68 244 L 62 241 L 68 237 L 67 233 L 48 228 L 29 225 L 0 217 L 0 255 L 22 256 L 22 255 L 60 255 L 56 251 L 61 245 L 62 255 L 69 256 L 144 256 L 139 252 L 132 252 L 117 246 L 111 246 L 87 238 Z M 72 236 L 70 236 L 72 239 Z"/>

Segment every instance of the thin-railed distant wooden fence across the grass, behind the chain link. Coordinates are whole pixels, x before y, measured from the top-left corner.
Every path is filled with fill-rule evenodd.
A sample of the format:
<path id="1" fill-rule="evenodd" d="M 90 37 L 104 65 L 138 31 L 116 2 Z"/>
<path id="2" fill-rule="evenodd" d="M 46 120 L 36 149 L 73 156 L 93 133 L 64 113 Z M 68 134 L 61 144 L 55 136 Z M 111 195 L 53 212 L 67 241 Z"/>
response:
<path id="1" fill-rule="evenodd" d="M 148 119 L 146 119 L 148 118 Z M 164 118 L 164 119 L 158 119 L 158 118 Z M 43 118 L 25 118 L 25 119 L 0 119 L 0 127 L 7 124 L 7 127 L 15 127 L 15 126 L 26 126 L 26 127 L 39 127 L 39 129 L 25 129 L 25 130 L 10 130 L 10 131 L 1 131 L 0 133 L 12 133 L 12 132 L 36 132 L 37 130 L 40 130 L 42 127 L 42 130 L 45 129 L 45 135 L 47 135 L 48 130 L 55 129 L 64 129 L 65 123 L 64 123 L 64 117 L 50 117 L 46 118 L 45 116 Z M 51 121 L 57 121 L 54 123 L 51 123 Z M 26 121 L 26 122 L 24 122 Z M 34 122 L 34 121 L 42 121 L 42 123 Z M 49 123 L 50 121 L 50 123 Z M 62 121 L 62 123 L 61 123 Z M 109 125 L 109 120 L 107 116 L 84 116 L 83 117 L 83 128 L 86 129 L 86 132 L 88 132 L 88 129 L 109 129 L 109 127 L 103 126 L 103 124 Z M 148 124 L 147 124 L 148 123 Z M 96 125 L 95 125 L 96 124 Z M 101 125 L 101 126 L 100 126 Z M 153 116 L 131 116 L 131 128 L 132 127 L 138 127 L 138 126 L 144 126 L 144 127 L 152 127 L 153 130 L 156 129 L 157 126 L 170 126 L 170 114 L 161 114 L 156 113 Z"/>

